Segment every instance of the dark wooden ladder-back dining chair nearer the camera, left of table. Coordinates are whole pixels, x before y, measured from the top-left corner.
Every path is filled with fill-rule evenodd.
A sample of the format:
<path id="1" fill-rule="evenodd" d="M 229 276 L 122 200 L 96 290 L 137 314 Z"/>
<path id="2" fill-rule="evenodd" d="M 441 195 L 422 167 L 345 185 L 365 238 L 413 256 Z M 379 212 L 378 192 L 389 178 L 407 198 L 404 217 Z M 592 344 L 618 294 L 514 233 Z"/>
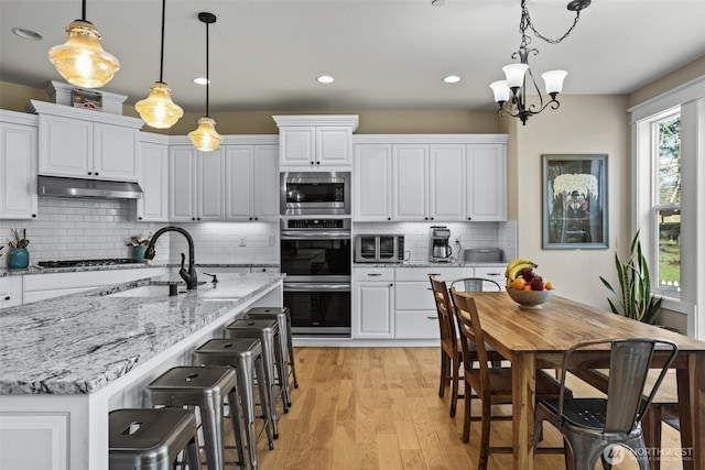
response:
<path id="1" fill-rule="evenodd" d="M 492 405 L 511 404 L 512 400 L 512 379 L 511 368 L 490 368 L 488 363 L 488 354 L 485 348 L 485 335 L 480 325 L 479 314 L 475 305 L 475 299 L 470 293 L 458 292 L 455 287 L 451 288 L 451 296 L 455 306 L 455 315 L 457 317 L 460 330 L 460 345 L 464 354 L 464 374 L 467 387 L 476 391 L 477 397 L 481 406 L 481 428 L 478 470 L 486 470 L 490 452 L 512 453 L 512 447 L 490 447 L 490 424 L 492 419 Z M 470 349 L 470 345 L 475 345 L 475 351 Z M 477 357 L 479 363 L 478 369 L 468 367 L 466 357 Z M 561 391 L 560 383 L 546 372 L 536 371 L 535 395 L 536 400 L 558 397 Z M 570 393 L 570 391 L 568 391 Z M 471 396 L 465 394 L 465 419 L 463 422 L 464 442 L 470 439 L 470 422 L 471 422 Z M 539 434 L 541 431 L 539 430 Z M 543 448 L 543 452 L 563 452 L 563 448 Z"/>

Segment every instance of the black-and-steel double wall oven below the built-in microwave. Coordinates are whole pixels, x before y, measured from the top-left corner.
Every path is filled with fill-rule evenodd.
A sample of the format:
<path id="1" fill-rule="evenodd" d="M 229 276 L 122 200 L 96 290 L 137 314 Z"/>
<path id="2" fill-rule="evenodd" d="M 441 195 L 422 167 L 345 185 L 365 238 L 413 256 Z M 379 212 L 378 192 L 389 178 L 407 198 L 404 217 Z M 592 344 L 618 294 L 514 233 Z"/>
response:
<path id="1" fill-rule="evenodd" d="M 292 334 L 350 336 L 350 219 L 282 219 L 281 271 Z"/>

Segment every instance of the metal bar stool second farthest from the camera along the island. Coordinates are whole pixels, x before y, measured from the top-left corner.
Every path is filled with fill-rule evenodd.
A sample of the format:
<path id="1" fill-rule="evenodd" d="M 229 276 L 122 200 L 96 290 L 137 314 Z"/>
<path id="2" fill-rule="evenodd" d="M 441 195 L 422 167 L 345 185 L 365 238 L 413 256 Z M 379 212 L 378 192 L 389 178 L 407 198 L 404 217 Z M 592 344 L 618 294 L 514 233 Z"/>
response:
<path id="1" fill-rule="evenodd" d="M 270 320 L 267 318 L 240 318 L 225 327 L 225 337 L 259 338 L 262 342 L 262 359 L 264 361 L 264 372 L 267 373 L 267 387 L 271 397 L 270 413 L 274 423 L 274 436 L 278 436 L 279 431 L 276 428 L 276 393 L 274 391 L 274 386 L 278 383 L 278 375 L 281 378 L 281 380 L 279 381 L 279 392 L 282 397 L 284 413 L 289 413 L 289 404 L 291 403 L 291 398 L 289 396 L 289 381 L 285 380 L 286 367 L 284 364 L 284 356 L 286 353 L 286 350 L 282 350 L 282 341 L 278 320 Z"/>

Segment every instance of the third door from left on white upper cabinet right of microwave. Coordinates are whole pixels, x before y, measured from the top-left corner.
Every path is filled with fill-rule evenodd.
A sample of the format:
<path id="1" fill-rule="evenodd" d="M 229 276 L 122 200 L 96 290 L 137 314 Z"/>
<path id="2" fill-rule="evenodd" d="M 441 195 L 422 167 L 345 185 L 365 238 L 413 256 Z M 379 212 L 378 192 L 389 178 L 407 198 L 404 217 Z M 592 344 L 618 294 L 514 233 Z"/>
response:
<path id="1" fill-rule="evenodd" d="M 431 220 L 465 220 L 465 144 L 431 145 L 429 216 Z"/>

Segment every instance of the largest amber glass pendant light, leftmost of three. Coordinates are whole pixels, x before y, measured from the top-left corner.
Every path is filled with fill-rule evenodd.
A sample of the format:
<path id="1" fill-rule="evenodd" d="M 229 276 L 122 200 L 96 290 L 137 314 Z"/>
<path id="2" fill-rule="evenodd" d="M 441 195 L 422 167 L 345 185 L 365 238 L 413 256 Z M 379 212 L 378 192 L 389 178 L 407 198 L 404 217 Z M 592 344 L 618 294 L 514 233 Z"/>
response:
<path id="1" fill-rule="evenodd" d="M 48 59 L 72 85 L 100 88 L 112 79 L 120 62 L 100 45 L 100 33 L 86 21 L 86 0 L 83 0 L 80 20 L 66 26 L 66 43 L 48 50 Z"/>

